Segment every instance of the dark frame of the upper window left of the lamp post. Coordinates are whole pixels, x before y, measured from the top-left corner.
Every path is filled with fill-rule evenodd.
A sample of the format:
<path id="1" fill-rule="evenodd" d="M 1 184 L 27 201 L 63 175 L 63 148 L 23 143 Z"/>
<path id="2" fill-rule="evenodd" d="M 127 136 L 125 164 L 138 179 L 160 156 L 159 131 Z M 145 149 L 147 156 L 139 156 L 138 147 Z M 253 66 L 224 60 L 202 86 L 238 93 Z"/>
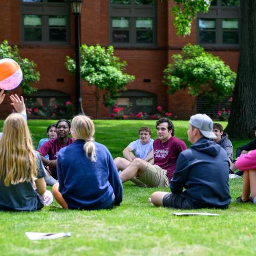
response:
<path id="1" fill-rule="evenodd" d="M 20 2 L 20 41 L 22 44 L 33 45 L 69 45 L 70 44 L 70 3 L 48 3 L 47 0 L 42 2 Z M 25 40 L 24 15 L 41 16 L 41 40 Z M 49 17 L 66 16 L 66 41 L 51 41 Z"/>

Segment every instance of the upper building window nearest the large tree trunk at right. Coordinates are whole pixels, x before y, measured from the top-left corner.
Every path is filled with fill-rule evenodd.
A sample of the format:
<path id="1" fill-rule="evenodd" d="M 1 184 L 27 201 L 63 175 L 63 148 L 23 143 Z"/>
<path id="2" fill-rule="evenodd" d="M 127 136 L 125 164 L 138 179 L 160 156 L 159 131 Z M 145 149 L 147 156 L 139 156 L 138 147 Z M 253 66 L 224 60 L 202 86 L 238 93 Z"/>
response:
<path id="1" fill-rule="evenodd" d="M 239 44 L 239 0 L 215 0 L 208 13 L 198 14 L 198 42 L 202 46 Z"/>

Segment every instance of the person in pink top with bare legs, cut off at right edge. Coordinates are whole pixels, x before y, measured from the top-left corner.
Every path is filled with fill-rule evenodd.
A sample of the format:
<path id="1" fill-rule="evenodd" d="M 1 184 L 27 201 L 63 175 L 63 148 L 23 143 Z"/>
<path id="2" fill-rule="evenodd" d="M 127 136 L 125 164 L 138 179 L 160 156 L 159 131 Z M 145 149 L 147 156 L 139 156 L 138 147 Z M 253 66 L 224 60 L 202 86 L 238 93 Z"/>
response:
<path id="1" fill-rule="evenodd" d="M 237 202 L 253 201 L 256 204 L 256 150 L 241 154 L 235 164 L 238 169 L 244 171 L 242 196 L 237 198 Z"/>

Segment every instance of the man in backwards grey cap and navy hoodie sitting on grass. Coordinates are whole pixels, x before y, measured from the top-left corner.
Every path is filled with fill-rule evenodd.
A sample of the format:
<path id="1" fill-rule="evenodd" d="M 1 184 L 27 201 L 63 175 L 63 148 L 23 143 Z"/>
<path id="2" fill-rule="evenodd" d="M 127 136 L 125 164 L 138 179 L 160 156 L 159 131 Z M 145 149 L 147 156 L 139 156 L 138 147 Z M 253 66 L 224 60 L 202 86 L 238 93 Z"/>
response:
<path id="1" fill-rule="evenodd" d="M 153 193 L 153 204 L 178 209 L 228 208 L 229 164 L 225 150 L 210 140 L 216 138 L 212 126 L 205 114 L 190 117 L 187 135 L 193 145 L 178 157 L 170 182 L 172 193 Z"/>

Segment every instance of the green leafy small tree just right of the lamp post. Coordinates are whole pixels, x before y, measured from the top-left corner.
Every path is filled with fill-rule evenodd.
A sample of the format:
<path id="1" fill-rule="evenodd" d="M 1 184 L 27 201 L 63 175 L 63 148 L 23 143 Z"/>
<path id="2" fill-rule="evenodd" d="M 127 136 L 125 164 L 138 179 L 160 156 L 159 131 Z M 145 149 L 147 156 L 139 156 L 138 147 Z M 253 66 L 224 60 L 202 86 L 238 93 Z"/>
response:
<path id="1" fill-rule="evenodd" d="M 120 61 L 114 55 L 114 48 L 82 45 L 81 48 L 81 77 L 89 86 L 95 86 L 96 118 L 99 111 L 100 91 L 103 92 L 105 106 L 115 103 L 120 90 L 134 81 L 133 75 L 123 73 L 126 62 Z M 75 60 L 66 56 L 66 67 L 72 74 L 75 73 Z"/>

